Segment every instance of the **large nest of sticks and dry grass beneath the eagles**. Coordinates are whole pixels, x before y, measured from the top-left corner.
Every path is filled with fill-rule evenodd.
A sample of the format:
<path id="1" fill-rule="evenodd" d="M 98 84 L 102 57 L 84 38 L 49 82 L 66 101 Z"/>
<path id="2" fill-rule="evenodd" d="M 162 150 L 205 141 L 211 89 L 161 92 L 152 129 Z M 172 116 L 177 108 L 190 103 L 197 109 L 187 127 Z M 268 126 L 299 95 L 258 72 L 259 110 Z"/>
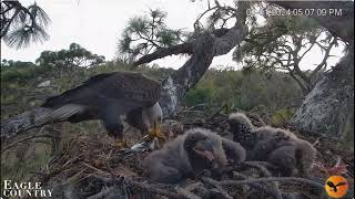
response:
<path id="1" fill-rule="evenodd" d="M 213 114 L 195 121 L 166 121 L 164 133 L 169 138 L 191 127 L 205 127 L 227 134 L 226 116 Z M 256 121 L 257 123 L 257 121 Z M 125 132 L 130 145 L 142 136 L 134 129 Z M 54 198 L 320 198 L 324 179 L 275 177 L 267 163 L 247 161 L 229 166 L 221 179 L 203 172 L 180 185 L 153 184 L 142 168 L 150 154 L 120 149 L 105 134 L 79 135 L 63 142 L 61 150 L 38 175 Z M 354 157 L 354 156 L 352 156 Z M 321 176 L 321 175 L 318 175 Z"/>

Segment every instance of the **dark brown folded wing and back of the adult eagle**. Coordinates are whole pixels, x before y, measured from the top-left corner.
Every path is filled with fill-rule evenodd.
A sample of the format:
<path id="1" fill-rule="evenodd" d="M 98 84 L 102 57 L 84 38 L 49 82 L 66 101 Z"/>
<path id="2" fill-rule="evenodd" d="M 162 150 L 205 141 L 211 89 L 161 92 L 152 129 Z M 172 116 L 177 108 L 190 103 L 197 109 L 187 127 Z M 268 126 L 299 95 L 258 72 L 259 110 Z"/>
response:
<path id="1" fill-rule="evenodd" d="M 88 107 L 104 107 L 118 104 L 124 112 L 155 104 L 160 97 L 160 82 L 140 73 L 115 72 L 92 76 L 82 85 L 50 97 L 43 107 L 60 107 L 79 104 Z"/>

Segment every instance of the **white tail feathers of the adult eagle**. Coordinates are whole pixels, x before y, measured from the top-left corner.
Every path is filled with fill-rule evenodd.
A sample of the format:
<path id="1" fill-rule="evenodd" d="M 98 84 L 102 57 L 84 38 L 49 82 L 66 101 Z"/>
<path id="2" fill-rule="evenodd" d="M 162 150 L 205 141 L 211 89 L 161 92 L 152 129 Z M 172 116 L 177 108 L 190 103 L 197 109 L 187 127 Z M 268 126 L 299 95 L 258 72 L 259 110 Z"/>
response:
<path id="1" fill-rule="evenodd" d="M 47 113 L 34 119 L 34 126 L 41 126 L 48 123 L 64 122 L 68 119 L 68 117 L 83 112 L 84 109 L 84 106 L 78 104 L 67 104 L 57 109 L 49 109 Z"/>

